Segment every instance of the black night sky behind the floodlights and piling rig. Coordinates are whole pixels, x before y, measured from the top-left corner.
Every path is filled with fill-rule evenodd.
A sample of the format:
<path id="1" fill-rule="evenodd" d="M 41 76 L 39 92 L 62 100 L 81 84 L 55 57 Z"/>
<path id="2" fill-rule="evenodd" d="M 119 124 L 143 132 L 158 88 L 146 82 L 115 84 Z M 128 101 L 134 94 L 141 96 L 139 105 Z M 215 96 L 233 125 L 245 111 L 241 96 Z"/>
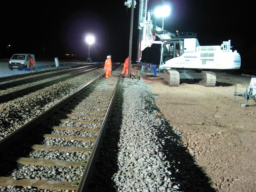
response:
<path id="1" fill-rule="evenodd" d="M 12 1 L 0 0 L 0 58 L 14 53 L 33 53 L 36 58 L 75 59 L 88 57 L 84 36 L 94 34 L 90 47 L 93 61 L 124 61 L 129 54 L 131 9 L 125 0 L 112 1 Z M 149 0 L 148 8 L 161 5 Z M 249 1 L 166 0 L 172 6 L 164 19 L 170 32 L 195 32 L 200 45 L 221 45 L 231 40 L 232 50 L 241 55 L 241 68 L 256 69 L 254 40 L 254 8 Z M 134 9 L 132 60 L 136 59 L 139 1 Z M 162 26 L 162 19 L 157 20 Z M 44 50 L 44 51 L 43 51 Z M 159 64 L 160 47 L 153 45 L 142 52 L 142 61 Z"/>

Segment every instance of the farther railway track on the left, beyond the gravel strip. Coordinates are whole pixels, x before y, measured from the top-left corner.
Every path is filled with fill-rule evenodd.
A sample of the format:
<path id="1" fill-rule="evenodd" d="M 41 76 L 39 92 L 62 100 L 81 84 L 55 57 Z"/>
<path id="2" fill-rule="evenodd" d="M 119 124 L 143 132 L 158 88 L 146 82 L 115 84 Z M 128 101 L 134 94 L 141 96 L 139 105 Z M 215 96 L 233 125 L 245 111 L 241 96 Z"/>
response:
<path id="1" fill-rule="evenodd" d="M 43 74 L 28 78 L 23 78 L 15 81 L 8 81 L 0 83 L 0 101 L 7 101 L 12 98 L 18 97 L 21 94 L 31 92 L 33 90 L 45 87 L 47 85 L 53 84 L 55 82 L 68 79 L 79 75 L 83 72 L 100 68 L 103 65 L 95 64 L 88 65 L 84 67 L 77 67 L 74 69 L 67 69 L 63 71 L 53 72 L 51 74 Z"/>

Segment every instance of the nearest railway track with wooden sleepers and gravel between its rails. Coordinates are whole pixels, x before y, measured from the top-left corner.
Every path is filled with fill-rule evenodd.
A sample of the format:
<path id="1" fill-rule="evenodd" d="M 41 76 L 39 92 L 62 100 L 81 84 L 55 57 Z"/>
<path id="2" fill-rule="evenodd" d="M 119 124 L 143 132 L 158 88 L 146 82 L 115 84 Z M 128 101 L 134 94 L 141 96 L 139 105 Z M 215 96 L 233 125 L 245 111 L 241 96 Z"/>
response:
<path id="1" fill-rule="evenodd" d="M 11 185 L 28 191 L 83 191 L 92 174 L 120 78 L 95 78 L 1 140 L 1 189 Z"/>

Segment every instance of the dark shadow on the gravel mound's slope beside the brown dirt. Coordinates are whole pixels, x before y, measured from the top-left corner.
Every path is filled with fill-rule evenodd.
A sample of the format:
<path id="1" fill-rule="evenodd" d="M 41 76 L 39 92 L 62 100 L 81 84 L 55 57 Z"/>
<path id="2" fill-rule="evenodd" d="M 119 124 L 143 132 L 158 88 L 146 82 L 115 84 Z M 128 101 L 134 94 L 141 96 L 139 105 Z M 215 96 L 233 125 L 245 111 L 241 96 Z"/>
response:
<path id="1" fill-rule="evenodd" d="M 168 170 L 175 178 L 173 182 L 176 185 L 180 184 L 179 188 L 184 192 L 216 191 L 211 187 L 210 179 L 206 176 L 206 173 L 196 164 L 187 148 L 182 145 L 181 135 L 176 133 L 167 121 L 164 122 L 164 127 L 165 129 L 161 129 L 161 131 L 159 127 L 155 128 L 159 130 L 159 140 L 165 143 L 162 144 L 163 153 L 166 155 L 166 160 L 172 165 Z M 168 138 L 166 135 L 170 137 Z"/>

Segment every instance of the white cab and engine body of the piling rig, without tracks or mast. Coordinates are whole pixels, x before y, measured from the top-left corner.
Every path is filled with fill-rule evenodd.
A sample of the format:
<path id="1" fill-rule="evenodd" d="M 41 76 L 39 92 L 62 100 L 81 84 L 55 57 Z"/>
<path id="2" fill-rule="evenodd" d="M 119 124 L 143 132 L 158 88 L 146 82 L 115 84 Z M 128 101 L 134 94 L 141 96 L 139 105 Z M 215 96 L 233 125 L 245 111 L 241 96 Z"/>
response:
<path id="1" fill-rule="evenodd" d="M 230 49 L 230 41 L 223 41 L 221 46 L 199 46 L 196 38 L 166 40 L 162 55 L 160 70 L 173 68 L 225 70 L 239 69 L 241 66 L 240 54 Z"/>

